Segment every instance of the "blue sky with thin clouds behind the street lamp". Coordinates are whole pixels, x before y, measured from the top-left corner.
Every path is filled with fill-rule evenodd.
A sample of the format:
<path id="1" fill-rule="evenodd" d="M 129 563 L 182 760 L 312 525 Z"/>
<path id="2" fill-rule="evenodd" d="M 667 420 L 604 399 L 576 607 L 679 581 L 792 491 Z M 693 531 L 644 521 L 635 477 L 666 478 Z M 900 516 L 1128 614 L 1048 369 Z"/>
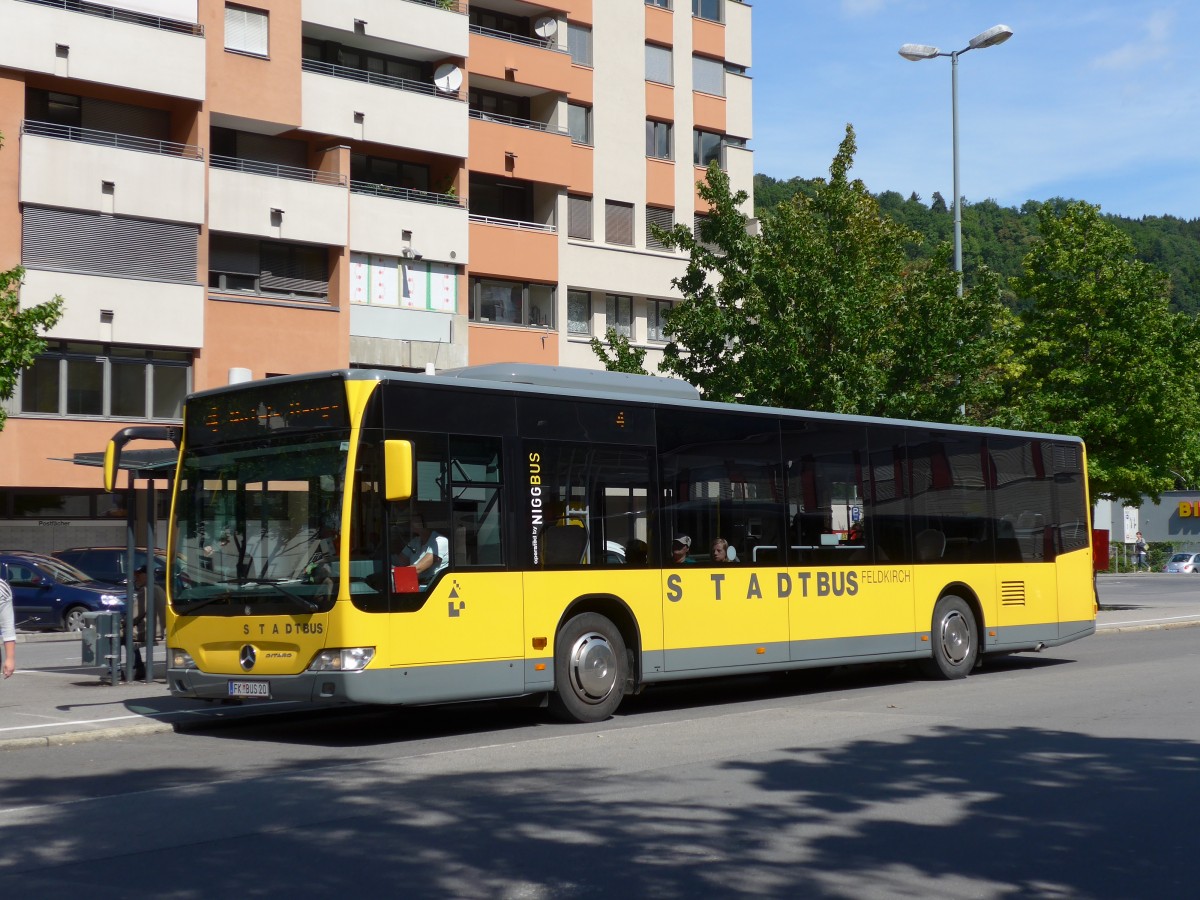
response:
<path id="1" fill-rule="evenodd" d="M 755 170 L 828 176 L 847 122 L 866 187 L 953 196 L 950 60 L 967 202 L 1067 197 L 1104 212 L 1200 217 L 1194 0 L 752 0 Z"/>

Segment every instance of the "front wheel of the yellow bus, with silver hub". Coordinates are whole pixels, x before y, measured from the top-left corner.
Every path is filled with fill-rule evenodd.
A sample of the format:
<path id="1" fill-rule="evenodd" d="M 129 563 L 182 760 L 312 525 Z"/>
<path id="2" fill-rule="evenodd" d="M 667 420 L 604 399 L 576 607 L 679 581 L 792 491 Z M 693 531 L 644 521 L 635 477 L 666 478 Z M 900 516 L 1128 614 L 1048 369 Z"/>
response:
<path id="1" fill-rule="evenodd" d="M 599 613 L 568 622 L 554 641 L 554 692 L 550 709 L 570 722 L 601 722 L 625 695 L 625 641 Z"/>

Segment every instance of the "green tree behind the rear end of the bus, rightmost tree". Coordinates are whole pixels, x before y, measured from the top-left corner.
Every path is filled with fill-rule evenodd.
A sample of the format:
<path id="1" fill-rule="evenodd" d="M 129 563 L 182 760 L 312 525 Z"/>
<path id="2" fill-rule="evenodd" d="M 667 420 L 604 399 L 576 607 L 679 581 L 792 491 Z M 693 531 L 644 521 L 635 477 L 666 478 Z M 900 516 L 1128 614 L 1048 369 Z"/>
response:
<path id="1" fill-rule="evenodd" d="M 1196 470 L 1200 326 L 1171 312 L 1168 277 L 1096 206 L 1045 204 L 1038 223 L 1013 283 L 1024 370 L 1012 424 L 1082 437 L 1093 497 L 1157 499 L 1175 472 Z"/>

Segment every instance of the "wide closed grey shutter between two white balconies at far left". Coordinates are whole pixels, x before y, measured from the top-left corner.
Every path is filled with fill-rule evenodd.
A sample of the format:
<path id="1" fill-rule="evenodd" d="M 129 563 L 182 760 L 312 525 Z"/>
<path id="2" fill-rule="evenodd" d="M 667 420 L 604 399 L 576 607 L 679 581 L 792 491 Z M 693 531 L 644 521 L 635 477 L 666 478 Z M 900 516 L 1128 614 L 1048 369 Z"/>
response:
<path id="1" fill-rule="evenodd" d="M 144 218 L 25 206 L 20 262 L 121 278 L 197 281 L 199 228 Z"/>

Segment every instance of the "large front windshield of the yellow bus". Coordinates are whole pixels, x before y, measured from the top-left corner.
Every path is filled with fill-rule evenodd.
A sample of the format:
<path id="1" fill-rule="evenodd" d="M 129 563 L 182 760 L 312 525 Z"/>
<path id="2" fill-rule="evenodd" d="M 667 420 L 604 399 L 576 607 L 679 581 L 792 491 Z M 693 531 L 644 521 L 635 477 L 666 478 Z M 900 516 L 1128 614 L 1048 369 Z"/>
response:
<path id="1" fill-rule="evenodd" d="M 175 611 L 329 610 L 348 448 L 349 431 L 336 430 L 185 451 L 175 499 Z"/>

